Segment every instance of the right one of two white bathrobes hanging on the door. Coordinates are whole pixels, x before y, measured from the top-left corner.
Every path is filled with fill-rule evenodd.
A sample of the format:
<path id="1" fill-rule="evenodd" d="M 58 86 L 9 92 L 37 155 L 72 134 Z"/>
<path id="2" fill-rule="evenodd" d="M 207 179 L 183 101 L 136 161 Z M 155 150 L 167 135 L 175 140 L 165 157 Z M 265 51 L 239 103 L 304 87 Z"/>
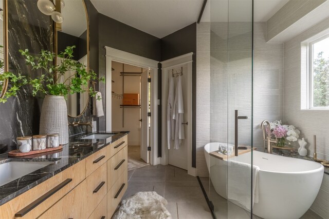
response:
<path id="1" fill-rule="evenodd" d="M 174 148 L 179 149 L 181 145 L 181 140 L 185 139 L 185 130 L 184 130 L 184 102 L 183 102 L 183 93 L 181 89 L 181 76 L 178 76 L 178 81 L 176 85 L 175 92 L 175 102 L 173 108 L 173 116 L 175 120 L 175 136 L 174 136 Z"/>

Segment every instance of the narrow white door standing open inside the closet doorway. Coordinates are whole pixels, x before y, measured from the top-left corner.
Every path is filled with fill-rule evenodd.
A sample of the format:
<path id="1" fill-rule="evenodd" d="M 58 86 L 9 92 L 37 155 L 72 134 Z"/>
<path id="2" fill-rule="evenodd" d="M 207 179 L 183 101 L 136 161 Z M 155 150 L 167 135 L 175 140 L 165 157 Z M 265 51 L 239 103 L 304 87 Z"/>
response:
<path id="1" fill-rule="evenodd" d="M 150 163 L 150 151 L 148 147 L 150 146 L 149 142 L 149 89 L 150 83 L 148 82 L 149 71 L 144 71 L 141 75 L 141 141 L 140 141 L 140 158 L 146 163 Z"/>

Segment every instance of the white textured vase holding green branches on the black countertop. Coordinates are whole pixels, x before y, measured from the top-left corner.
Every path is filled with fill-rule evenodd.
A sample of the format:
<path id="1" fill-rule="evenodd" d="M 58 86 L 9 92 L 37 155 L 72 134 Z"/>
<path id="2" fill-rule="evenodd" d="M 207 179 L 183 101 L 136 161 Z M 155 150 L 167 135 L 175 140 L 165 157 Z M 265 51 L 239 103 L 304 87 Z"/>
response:
<path id="1" fill-rule="evenodd" d="M 45 96 L 39 132 L 40 134 L 59 134 L 60 144 L 68 143 L 67 107 L 64 96 Z"/>

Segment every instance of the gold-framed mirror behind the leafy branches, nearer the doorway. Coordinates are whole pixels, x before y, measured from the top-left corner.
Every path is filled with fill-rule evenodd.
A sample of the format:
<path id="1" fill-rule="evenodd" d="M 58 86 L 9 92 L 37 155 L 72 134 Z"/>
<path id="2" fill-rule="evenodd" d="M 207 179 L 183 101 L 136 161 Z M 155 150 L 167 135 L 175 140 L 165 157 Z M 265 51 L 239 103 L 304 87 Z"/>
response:
<path id="1" fill-rule="evenodd" d="M 58 4 L 60 1 L 56 1 Z M 83 0 L 65 1 L 65 6 L 61 8 L 61 14 L 64 18 L 63 23 L 55 23 L 54 32 L 54 51 L 60 54 L 67 46 L 76 46 L 74 48 L 74 59 L 86 66 L 89 70 L 89 22 L 87 8 Z M 60 62 L 57 57 L 56 62 Z M 75 72 L 67 72 L 59 80 L 66 81 Z M 89 82 L 86 85 L 89 89 Z M 84 89 L 85 90 L 85 89 Z M 69 117 L 79 117 L 87 109 L 89 102 L 89 93 L 68 94 L 66 99 L 67 114 Z"/>

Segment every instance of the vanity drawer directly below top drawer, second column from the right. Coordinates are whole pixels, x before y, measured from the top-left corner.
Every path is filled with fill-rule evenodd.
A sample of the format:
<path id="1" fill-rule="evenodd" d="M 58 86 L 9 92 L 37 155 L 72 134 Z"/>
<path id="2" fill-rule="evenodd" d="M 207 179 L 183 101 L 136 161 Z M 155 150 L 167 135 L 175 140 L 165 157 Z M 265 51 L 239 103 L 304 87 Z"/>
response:
<path id="1" fill-rule="evenodd" d="M 88 205 L 86 207 L 87 217 L 94 211 L 97 205 L 107 192 L 107 174 L 106 163 L 100 166 L 95 172 L 87 176 L 87 195 Z"/>

